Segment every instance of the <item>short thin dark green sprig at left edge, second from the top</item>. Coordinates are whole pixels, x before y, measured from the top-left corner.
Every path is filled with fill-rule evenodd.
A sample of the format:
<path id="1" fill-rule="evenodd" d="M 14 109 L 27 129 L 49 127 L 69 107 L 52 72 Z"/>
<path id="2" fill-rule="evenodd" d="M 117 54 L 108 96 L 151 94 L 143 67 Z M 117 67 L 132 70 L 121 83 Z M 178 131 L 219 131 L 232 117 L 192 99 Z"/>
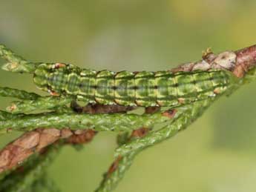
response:
<path id="1" fill-rule="evenodd" d="M 36 93 L 29 93 L 24 90 L 17 90 L 9 87 L 0 87 L 0 96 L 15 97 L 25 100 L 33 100 L 40 97 Z"/>

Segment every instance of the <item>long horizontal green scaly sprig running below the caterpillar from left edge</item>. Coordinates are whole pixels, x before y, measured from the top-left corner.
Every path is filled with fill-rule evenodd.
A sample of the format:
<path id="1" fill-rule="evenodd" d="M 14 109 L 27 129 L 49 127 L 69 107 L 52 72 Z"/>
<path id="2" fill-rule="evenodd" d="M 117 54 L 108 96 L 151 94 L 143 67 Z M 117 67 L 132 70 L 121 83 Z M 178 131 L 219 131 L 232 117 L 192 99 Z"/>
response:
<path id="1" fill-rule="evenodd" d="M 151 128 L 157 123 L 170 121 L 162 113 L 154 114 L 76 114 L 76 113 L 39 113 L 16 119 L 0 121 L 0 130 L 33 130 L 35 128 L 94 129 L 96 131 L 122 131 L 136 128 Z"/>

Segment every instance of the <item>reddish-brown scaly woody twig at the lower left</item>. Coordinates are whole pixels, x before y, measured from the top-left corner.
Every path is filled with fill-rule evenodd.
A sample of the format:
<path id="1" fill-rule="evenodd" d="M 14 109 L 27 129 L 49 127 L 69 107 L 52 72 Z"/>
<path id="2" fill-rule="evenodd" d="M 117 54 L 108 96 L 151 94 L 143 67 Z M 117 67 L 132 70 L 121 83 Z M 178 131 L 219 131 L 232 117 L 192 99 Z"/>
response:
<path id="1" fill-rule="evenodd" d="M 24 133 L 0 151 L 0 173 L 20 165 L 33 153 L 42 153 L 48 145 L 57 142 L 59 139 L 65 139 L 67 144 L 84 144 L 90 142 L 95 133 L 94 130 L 72 131 L 54 128 L 38 128 Z"/>

